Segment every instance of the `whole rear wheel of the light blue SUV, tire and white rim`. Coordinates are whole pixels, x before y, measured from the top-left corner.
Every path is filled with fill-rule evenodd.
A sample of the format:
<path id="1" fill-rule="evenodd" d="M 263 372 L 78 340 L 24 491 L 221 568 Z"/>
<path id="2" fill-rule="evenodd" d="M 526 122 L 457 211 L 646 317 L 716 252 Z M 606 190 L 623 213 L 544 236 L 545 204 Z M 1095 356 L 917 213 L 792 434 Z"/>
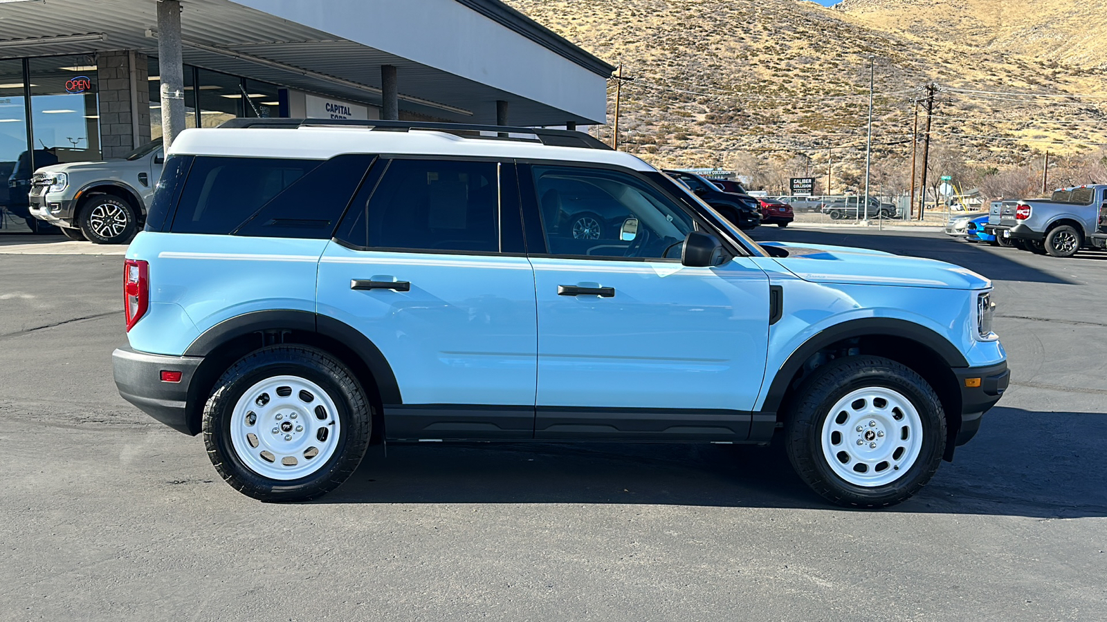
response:
<path id="1" fill-rule="evenodd" d="M 358 468 L 372 418 L 341 362 L 314 348 L 272 345 L 216 382 L 204 408 L 204 445 L 240 493 L 301 501 L 338 488 Z"/>

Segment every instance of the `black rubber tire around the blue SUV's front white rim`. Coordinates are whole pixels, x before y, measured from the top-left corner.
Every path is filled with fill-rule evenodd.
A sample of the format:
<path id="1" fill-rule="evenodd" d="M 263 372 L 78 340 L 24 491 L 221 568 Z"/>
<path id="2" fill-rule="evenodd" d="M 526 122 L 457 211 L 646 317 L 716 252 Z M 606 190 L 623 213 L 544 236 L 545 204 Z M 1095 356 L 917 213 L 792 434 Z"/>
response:
<path id="1" fill-rule="evenodd" d="M 839 400 L 853 391 L 872 387 L 892 390 L 910 402 L 921 423 L 921 445 L 918 457 L 902 475 L 887 484 L 861 486 L 834 471 L 829 462 L 832 458 L 823 450 L 824 423 Z M 845 412 L 839 414 L 847 415 Z M 870 415 L 861 416 L 868 418 Z M 785 446 L 793 467 L 813 490 L 840 506 L 875 508 L 903 501 L 930 481 L 945 448 L 945 412 L 938 394 L 919 374 L 881 356 L 847 356 L 817 369 L 800 386 L 787 417 Z M 863 434 L 869 434 L 868 429 Z M 851 443 L 842 436 L 839 438 L 840 443 Z M 883 438 L 879 442 L 898 443 L 891 434 Z M 883 468 L 889 465 L 884 464 Z M 880 469 L 879 464 L 876 469 Z M 899 470 L 899 466 L 894 469 Z"/>

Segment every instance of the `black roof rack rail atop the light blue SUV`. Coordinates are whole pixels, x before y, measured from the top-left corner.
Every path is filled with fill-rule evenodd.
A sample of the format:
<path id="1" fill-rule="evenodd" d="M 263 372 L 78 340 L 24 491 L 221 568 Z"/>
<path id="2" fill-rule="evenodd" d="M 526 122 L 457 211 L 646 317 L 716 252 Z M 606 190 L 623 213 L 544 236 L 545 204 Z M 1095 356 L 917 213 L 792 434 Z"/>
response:
<path id="1" fill-rule="evenodd" d="M 488 141 L 524 141 L 537 142 L 554 147 L 583 147 L 588 149 L 607 149 L 611 147 L 599 138 L 569 129 L 546 129 L 541 127 L 510 127 L 506 125 L 472 125 L 467 123 L 427 123 L 423 121 L 354 121 L 344 118 L 231 118 L 219 127 L 246 128 L 270 127 L 296 129 L 297 127 L 331 126 L 331 127 L 368 127 L 383 132 L 406 132 L 408 129 L 434 129 L 455 134 L 465 138 L 483 138 Z M 515 134 L 513 136 L 511 134 Z M 534 136 L 528 138 L 519 136 Z"/>

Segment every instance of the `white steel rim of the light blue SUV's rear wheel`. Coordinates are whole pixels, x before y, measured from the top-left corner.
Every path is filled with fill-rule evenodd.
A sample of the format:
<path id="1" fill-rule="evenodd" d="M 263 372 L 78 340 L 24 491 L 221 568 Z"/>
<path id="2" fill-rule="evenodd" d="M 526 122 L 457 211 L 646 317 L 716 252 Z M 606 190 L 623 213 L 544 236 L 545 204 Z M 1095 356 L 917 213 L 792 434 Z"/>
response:
<path id="1" fill-rule="evenodd" d="M 294 375 L 262 380 L 242 393 L 230 415 L 235 454 L 254 473 L 287 481 L 307 477 L 334 455 L 341 437 L 334 400 Z"/>

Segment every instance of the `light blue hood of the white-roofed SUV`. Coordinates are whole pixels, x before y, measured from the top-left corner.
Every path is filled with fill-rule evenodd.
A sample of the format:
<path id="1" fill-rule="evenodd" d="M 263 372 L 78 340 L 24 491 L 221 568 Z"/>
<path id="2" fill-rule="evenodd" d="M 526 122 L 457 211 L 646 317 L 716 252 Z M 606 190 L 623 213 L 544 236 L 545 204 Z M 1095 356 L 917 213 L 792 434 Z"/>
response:
<path id="1" fill-rule="evenodd" d="M 773 259 L 793 274 L 815 283 L 963 290 L 992 287 L 992 281 L 968 268 L 934 259 L 839 246 L 779 242 L 762 246 L 788 251 L 787 257 Z"/>

